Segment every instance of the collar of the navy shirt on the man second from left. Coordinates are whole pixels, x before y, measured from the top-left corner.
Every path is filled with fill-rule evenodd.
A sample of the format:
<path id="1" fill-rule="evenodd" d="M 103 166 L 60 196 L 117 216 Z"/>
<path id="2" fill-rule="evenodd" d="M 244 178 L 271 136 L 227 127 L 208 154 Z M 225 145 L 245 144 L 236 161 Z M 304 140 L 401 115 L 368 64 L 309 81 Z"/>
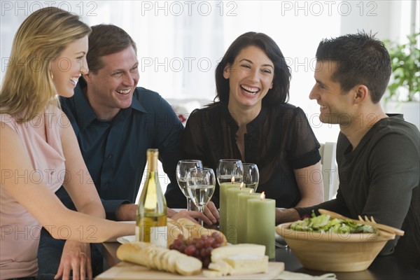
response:
<path id="1" fill-rule="evenodd" d="M 95 115 L 92 106 L 90 106 L 89 102 L 87 101 L 87 98 L 85 97 L 85 94 L 83 94 L 83 88 L 85 88 L 86 86 L 87 85 L 85 80 L 83 79 L 83 77 L 80 77 L 76 87 L 74 88 L 73 96 L 74 104 L 76 105 L 76 114 L 78 118 L 82 120 L 82 130 L 84 130 L 88 125 L 90 125 L 90 123 L 92 123 L 93 120 L 97 119 L 97 116 Z M 130 116 L 132 109 L 139 112 L 147 113 L 146 109 L 144 109 L 144 106 L 137 98 L 139 94 L 140 89 L 139 87 L 137 87 L 134 90 L 132 106 L 120 110 L 116 118 L 125 118 L 127 116 Z"/>

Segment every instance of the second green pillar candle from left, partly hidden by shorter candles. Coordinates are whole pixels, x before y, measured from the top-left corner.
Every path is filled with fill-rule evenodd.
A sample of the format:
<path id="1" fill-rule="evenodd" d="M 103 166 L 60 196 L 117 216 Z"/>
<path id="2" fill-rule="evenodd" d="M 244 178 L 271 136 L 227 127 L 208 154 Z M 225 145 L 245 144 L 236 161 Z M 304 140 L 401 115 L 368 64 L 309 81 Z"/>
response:
<path id="1" fill-rule="evenodd" d="M 226 228 L 227 235 L 226 239 L 231 244 L 237 244 L 237 215 L 239 206 L 239 193 L 249 193 L 251 188 L 228 188 L 226 191 L 228 202 L 228 216 L 226 216 Z"/>

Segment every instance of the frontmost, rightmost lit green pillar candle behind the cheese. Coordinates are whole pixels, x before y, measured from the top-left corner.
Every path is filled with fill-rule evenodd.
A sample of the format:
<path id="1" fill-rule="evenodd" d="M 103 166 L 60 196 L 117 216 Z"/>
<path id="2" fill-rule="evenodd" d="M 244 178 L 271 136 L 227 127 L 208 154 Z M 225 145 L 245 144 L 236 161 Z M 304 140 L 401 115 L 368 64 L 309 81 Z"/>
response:
<path id="1" fill-rule="evenodd" d="M 266 200 L 264 193 L 260 199 L 250 199 L 247 203 L 246 239 L 251 244 L 265 245 L 265 255 L 275 258 L 275 200 Z"/>

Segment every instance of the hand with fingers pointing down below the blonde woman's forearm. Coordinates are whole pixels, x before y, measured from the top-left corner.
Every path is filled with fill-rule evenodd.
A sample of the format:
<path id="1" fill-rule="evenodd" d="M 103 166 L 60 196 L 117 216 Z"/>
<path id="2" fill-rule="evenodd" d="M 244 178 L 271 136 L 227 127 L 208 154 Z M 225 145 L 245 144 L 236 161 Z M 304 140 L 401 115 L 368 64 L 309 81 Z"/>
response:
<path id="1" fill-rule="evenodd" d="M 59 277 L 62 277 L 63 280 L 71 279 L 71 271 L 73 271 L 73 279 L 92 279 L 90 244 L 66 241 L 54 279 L 59 279 Z"/>

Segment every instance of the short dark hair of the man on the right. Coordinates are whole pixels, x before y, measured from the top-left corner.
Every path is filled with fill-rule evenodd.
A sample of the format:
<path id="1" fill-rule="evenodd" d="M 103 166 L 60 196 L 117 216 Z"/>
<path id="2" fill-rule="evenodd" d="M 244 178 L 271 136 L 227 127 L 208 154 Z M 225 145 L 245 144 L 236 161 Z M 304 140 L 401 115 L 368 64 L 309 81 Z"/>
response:
<path id="1" fill-rule="evenodd" d="M 381 100 L 391 76 L 391 59 L 384 43 L 363 31 L 321 41 L 316 60 L 337 62 L 332 80 L 344 92 L 365 85 L 373 103 Z"/>

